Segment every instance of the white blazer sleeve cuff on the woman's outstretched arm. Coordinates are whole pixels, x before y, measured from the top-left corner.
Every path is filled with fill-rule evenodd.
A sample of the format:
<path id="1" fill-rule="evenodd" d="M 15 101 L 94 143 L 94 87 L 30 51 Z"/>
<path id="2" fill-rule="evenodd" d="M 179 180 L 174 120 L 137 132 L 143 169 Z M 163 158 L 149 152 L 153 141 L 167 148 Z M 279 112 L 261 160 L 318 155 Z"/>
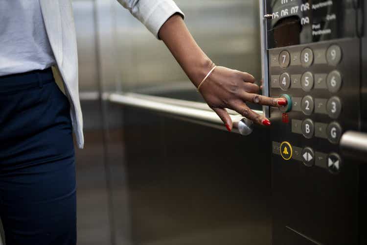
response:
<path id="1" fill-rule="evenodd" d="M 184 18 L 184 13 L 173 0 L 118 0 L 144 24 L 156 38 L 162 25 L 172 15 L 178 13 Z"/>

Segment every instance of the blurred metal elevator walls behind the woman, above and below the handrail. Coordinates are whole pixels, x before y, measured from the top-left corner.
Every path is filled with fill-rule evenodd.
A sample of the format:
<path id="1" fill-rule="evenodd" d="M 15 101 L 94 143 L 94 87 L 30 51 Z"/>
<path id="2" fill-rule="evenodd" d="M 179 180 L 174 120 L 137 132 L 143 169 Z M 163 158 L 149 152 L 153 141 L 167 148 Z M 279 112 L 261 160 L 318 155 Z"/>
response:
<path id="1" fill-rule="evenodd" d="M 217 65 L 260 79 L 258 0 L 175 1 Z M 78 244 L 270 244 L 270 154 L 258 152 L 270 147 L 267 132 L 243 137 L 109 101 L 203 102 L 116 0 L 73 0 L 73 10 L 86 140 L 77 150 Z"/>

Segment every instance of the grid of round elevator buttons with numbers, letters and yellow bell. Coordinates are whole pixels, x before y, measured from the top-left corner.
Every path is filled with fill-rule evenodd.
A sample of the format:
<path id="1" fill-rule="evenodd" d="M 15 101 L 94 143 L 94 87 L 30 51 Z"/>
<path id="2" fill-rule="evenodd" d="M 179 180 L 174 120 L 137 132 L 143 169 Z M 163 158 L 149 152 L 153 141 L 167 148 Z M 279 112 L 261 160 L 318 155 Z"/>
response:
<path id="1" fill-rule="evenodd" d="M 360 68 L 353 63 L 360 57 L 358 39 L 274 48 L 268 53 L 269 96 L 289 102 L 269 109 L 272 126 L 278 127 L 273 153 L 284 161 L 340 172 L 340 139 L 346 130 L 358 129 L 360 98 L 353 96 L 360 89 Z"/>

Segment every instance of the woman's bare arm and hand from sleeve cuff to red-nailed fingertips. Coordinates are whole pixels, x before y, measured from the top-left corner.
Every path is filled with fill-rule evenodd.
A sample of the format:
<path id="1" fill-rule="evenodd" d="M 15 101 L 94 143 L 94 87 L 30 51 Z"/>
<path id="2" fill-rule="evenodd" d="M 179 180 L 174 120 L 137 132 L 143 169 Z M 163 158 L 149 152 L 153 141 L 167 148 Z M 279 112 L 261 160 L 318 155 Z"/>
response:
<path id="1" fill-rule="evenodd" d="M 166 44 L 192 83 L 198 87 L 206 74 L 215 64 L 197 45 L 188 31 L 181 15 L 173 15 L 159 31 L 159 37 Z M 270 121 L 253 112 L 246 104 L 251 101 L 261 105 L 282 106 L 287 103 L 283 98 L 268 98 L 257 95 L 259 87 L 249 73 L 217 67 L 200 87 L 206 103 L 232 129 L 232 121 L 225 108 L 237 111 L 255 123 L 270 126 Z"/>

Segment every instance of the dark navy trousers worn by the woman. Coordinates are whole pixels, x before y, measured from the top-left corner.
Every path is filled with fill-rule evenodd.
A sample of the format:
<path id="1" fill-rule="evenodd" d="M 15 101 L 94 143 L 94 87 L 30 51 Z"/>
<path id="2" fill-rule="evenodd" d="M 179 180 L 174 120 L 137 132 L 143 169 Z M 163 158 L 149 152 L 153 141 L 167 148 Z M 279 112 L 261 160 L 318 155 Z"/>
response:
<path id="1" fill-rule="evenodd" d="M 0 218 L 6 245 L 75 245 L 68 98 L 51 69 L 0 77 Z"/>

